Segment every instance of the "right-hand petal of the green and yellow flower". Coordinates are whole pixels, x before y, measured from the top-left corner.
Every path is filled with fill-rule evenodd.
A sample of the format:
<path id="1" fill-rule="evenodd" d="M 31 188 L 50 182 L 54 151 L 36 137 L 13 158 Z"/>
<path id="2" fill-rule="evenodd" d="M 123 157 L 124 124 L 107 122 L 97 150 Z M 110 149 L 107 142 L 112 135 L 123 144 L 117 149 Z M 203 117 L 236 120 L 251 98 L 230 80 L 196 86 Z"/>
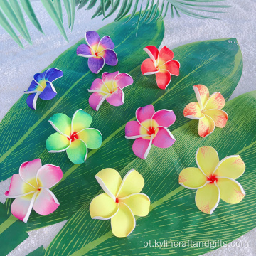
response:
<path id="1" fill-rule="evenodd" d="M 78 132 L 78 138 L 82 139 L 89 149 L 98 149 L 102 144 L 102 134 L 94 128 L 86 128 Z"/>

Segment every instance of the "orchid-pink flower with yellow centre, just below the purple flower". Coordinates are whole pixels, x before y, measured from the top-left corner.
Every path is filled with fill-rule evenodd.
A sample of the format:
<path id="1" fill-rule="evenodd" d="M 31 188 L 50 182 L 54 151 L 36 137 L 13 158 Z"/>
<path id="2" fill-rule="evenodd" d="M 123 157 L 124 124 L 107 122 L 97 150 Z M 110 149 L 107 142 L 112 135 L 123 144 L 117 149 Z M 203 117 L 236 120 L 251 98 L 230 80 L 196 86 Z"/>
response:
<path id="1" fill-rule="evenodd" d="M 89 98 L 90 106 L 98 111 L 104 100 L 113 106 L 124 104 L 123 88 L 132 85 L 133 79 L 127 73 L 103 73 L 102 79 L 96 78 L 92 82 L 89 92 L 93 92 Z"/>

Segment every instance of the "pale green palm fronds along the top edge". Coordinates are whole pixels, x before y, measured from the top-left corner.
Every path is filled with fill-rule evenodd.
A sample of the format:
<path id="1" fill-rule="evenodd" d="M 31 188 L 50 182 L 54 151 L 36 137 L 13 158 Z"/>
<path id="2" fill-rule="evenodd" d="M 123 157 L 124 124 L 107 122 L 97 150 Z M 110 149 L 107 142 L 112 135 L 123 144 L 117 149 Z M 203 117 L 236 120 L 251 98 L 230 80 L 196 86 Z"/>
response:
<path id="1" fill-rule="evenodd" d="M 75 12 L 84 8 L 90 10 L 95 6 L 97 6 L 97 9 L 92 18 L 102 16 L 105 19 L 114 15 L 115 11 L 119 9 L 114 21 L 119 21 L 127 14 L 130 14 L 125 23 L 134 17 L 139 8 L 139 16 L 135 26 L 138 29 L 140 23 L 162 20 L 169 13 L 171 18 L 179 18 L 181 14 L 184 14 L 194 18 L 218 19 L 210 16 L 209 13 L 223 13 L 220 10 L 230 7 L 220 4 L 222 1 L 225 0 L 41 0 L 44 8 L 66 41 L 68 41 L 68 37 L 63 25 L 63 7 L 67 13 L 68 28 L 71 31 L 75 22 Z M 31 5 L 31 0 L 0 0 L 0 25 L 22 48 L 23 45 L 16 31 L 28 43 L 32 43 L 24 14 L 28 16 L 38 31 L 43 33 L 43 29 Z M 16 31 L 14 31 L 13 26 Z"/>

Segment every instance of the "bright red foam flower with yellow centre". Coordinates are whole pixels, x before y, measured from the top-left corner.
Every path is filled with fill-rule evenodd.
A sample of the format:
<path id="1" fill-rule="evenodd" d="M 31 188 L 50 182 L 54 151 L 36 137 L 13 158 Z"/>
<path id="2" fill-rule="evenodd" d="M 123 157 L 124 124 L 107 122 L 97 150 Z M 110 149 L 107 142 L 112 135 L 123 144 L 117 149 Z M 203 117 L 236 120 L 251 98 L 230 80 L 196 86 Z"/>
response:
<path id="1" fill-rule="evenodd" d="M 173 60 L 174 53 L 172 50 L 164 46 L 158 50 L 156 46 L 146 46 L 143 49 L 148 55 L 142 63 L 142 74 L 156 74 L 156 84 L 160 89 L 166 89 L 171 82 L 171 75 L 179 75 L 180 63 Z"/>

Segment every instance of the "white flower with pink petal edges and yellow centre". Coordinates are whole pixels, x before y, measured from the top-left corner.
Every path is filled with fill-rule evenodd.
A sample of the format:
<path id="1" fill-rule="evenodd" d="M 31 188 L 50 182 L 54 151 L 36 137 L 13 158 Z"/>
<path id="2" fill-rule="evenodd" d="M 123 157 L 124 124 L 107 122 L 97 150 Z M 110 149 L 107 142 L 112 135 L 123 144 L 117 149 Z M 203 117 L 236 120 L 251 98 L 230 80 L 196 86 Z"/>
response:
<path id="1" fill-rule="evenodd" d="M 42 166 L 40 159 L 26 161 L 21 164 L 18 174 L 11 177 L 6 197 L 16 198 L 11 204 L 11 213 L 22 220 L 28 221 L 32 208 L 40 215 L 53 213 L 60 203 L 50 188 L 63 177 L 60 167 L 53 164 Z"/>

